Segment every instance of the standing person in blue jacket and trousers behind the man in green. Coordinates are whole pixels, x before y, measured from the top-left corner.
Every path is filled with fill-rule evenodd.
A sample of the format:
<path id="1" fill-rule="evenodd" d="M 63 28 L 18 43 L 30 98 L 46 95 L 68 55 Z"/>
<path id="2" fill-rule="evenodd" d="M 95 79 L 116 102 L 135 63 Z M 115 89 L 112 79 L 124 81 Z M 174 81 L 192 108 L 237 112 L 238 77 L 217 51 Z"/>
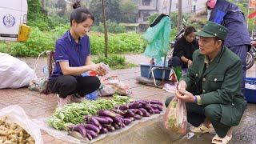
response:
<path id="1" fill-rule="evenodd" d="M 225 26 L 228 30 L 224 46 L 227 46 L 242 60 L 242 93 L 245 91 L 246 52 L 250 46 L 250 34 L 242 11 L 226 0 L 209 0 L 206 2 L 210 12 L 209 21 Z"/>

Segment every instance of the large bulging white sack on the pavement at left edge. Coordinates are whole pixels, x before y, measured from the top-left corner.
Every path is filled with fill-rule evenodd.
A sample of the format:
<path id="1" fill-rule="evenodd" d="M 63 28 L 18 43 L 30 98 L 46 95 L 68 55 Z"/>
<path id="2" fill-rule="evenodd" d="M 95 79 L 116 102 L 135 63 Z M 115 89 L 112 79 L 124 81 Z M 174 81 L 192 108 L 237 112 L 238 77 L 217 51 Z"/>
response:
<path id="1" fill-rule="evenodd" d="M 34 70 L 26 62 L 0 53 L 0 89 L 28 86 L 34 78 Z"/>

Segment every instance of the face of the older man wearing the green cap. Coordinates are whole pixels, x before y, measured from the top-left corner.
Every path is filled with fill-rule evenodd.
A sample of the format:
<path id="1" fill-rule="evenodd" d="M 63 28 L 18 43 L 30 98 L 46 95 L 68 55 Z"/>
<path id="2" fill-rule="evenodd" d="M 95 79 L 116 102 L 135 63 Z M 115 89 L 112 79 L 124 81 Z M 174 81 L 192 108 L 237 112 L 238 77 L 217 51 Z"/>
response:
<path id="1" fill-rule="evenodd" d="M 198 40 L 200 54 L 211 55 L 218 53 L 222 41 L 215 41 L 214 38 L 200 37 Z"/>

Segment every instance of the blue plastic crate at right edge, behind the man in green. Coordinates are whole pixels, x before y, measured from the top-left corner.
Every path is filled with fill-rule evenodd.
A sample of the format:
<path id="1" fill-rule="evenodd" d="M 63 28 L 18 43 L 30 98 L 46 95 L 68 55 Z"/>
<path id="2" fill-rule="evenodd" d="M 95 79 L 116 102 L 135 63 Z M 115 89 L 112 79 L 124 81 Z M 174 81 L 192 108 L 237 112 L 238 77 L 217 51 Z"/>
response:
<path id="1" fill-rule="evenodd" d="M 256 78 L 246 78 L 246 83 L 256 85 Z M 256 103 L 256 90 L 255 89 L 246 88 L 245 93 L 246 93 L 245 94 L 246 102 Z"/>

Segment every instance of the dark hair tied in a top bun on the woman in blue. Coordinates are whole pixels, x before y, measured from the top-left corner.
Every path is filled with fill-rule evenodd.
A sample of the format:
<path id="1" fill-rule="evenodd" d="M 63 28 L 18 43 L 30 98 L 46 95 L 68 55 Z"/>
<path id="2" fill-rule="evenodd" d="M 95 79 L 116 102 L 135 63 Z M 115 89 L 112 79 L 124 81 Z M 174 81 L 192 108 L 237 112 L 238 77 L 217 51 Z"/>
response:
<path id="1" fill-rule="evenodd" d="M 84 7 L 81 7 L 80 1 L 74 2 L 74 10 L 70 14 L 70 25 L 72 26 L 72 21 L 74 20 L 77 23 L 84 22 L 87 18 L 91 18 L 94 21 L 94 16 L 90 11 Z"/>

